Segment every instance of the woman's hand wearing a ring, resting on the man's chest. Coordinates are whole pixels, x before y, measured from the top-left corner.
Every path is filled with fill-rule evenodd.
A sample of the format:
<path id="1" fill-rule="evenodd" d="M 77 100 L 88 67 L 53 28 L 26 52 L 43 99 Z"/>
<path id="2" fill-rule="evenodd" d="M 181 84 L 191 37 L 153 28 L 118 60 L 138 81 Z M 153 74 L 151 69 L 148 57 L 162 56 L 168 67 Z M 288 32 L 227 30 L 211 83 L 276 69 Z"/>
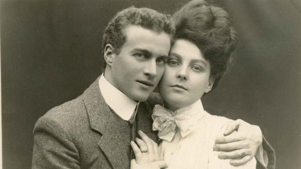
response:
<path id="1" fill-rule="evenodd" d="M 150 139 L 141 130 L 138 131 L 140 138 L 135 138 L 135 142 L 131 141 L 130 145 L 134 151 L 137 164 L 159 161 L 160 153 L 158 144 Z"/>

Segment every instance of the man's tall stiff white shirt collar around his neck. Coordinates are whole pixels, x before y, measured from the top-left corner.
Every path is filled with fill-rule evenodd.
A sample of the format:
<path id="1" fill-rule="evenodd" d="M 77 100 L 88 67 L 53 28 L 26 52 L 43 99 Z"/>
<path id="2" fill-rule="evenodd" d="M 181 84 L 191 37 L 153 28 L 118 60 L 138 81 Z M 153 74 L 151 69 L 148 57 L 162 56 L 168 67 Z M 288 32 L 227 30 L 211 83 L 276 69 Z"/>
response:
<path id="1" fill-rule="evenodd" d="M 99 88 L 104 101 L 124 120 L 129 120 L 132 116 L 138 101 L 135 101 L 115 88 L 103 73 L 99 78 Z"/>

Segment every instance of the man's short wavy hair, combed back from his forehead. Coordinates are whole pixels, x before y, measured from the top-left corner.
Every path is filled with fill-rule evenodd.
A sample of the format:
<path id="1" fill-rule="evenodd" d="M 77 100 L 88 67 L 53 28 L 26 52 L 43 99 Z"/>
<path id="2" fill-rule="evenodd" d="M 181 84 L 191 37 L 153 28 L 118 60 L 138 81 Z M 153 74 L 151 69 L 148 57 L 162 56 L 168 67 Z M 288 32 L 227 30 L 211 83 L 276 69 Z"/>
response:
<path id="1" fill-rule="evenodd" d="M 111 44 L 113 52 L 119 54 L 120 48 L 126 40 L 124 29 L 128 25 L 139 25 L 155 32 L 166 32 L 172 38 L 175 26 L 171 15 L 160 13 L 150 8 L 128 7 L 119 11 L 109 22 L 102 37 L 102 49 Z M 104 67 L 105 67 L 104 61 Z"/>

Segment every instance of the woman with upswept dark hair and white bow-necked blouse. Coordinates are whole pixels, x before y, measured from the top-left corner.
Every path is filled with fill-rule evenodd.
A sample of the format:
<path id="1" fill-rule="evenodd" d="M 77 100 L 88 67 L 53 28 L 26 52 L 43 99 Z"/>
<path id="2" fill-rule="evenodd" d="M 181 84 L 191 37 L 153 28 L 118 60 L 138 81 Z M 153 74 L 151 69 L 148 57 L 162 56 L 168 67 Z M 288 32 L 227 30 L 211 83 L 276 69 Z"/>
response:
<path id="1" fill-rule="evenodd" d="M 158 152 L 156 146 L 149 147 L 159 154 L 153 159 L 164 159 L 168 168 L 256 168 L 254 157 L 239 167 L 217 157 L 214 140 L 230 119 L 209 114 L 200 99 L 217 86 L 237 44 L 228 13 L 193 0 L 174 19 L 175 41 L 159 83 L 164 106 L 156 105 L 152 115 L 153 129 L 161 138 Z M 137 163 L 143 163 L 143 151 L 134 142 L 131 145 Z"/>

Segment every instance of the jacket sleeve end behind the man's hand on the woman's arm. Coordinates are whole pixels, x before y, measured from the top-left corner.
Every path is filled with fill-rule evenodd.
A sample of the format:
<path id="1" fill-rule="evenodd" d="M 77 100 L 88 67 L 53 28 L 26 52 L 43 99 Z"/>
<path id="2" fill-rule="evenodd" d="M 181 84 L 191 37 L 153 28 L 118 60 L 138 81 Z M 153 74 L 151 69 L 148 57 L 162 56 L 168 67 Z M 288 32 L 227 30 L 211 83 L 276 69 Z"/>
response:
<path id="1" fill-rule="evenodd" d="M 275 151 L 263 135 L 262 144 L 259 146 L 255 158 L 257 160 L 257 169 L 274 169 L 276 167 Z"/>

